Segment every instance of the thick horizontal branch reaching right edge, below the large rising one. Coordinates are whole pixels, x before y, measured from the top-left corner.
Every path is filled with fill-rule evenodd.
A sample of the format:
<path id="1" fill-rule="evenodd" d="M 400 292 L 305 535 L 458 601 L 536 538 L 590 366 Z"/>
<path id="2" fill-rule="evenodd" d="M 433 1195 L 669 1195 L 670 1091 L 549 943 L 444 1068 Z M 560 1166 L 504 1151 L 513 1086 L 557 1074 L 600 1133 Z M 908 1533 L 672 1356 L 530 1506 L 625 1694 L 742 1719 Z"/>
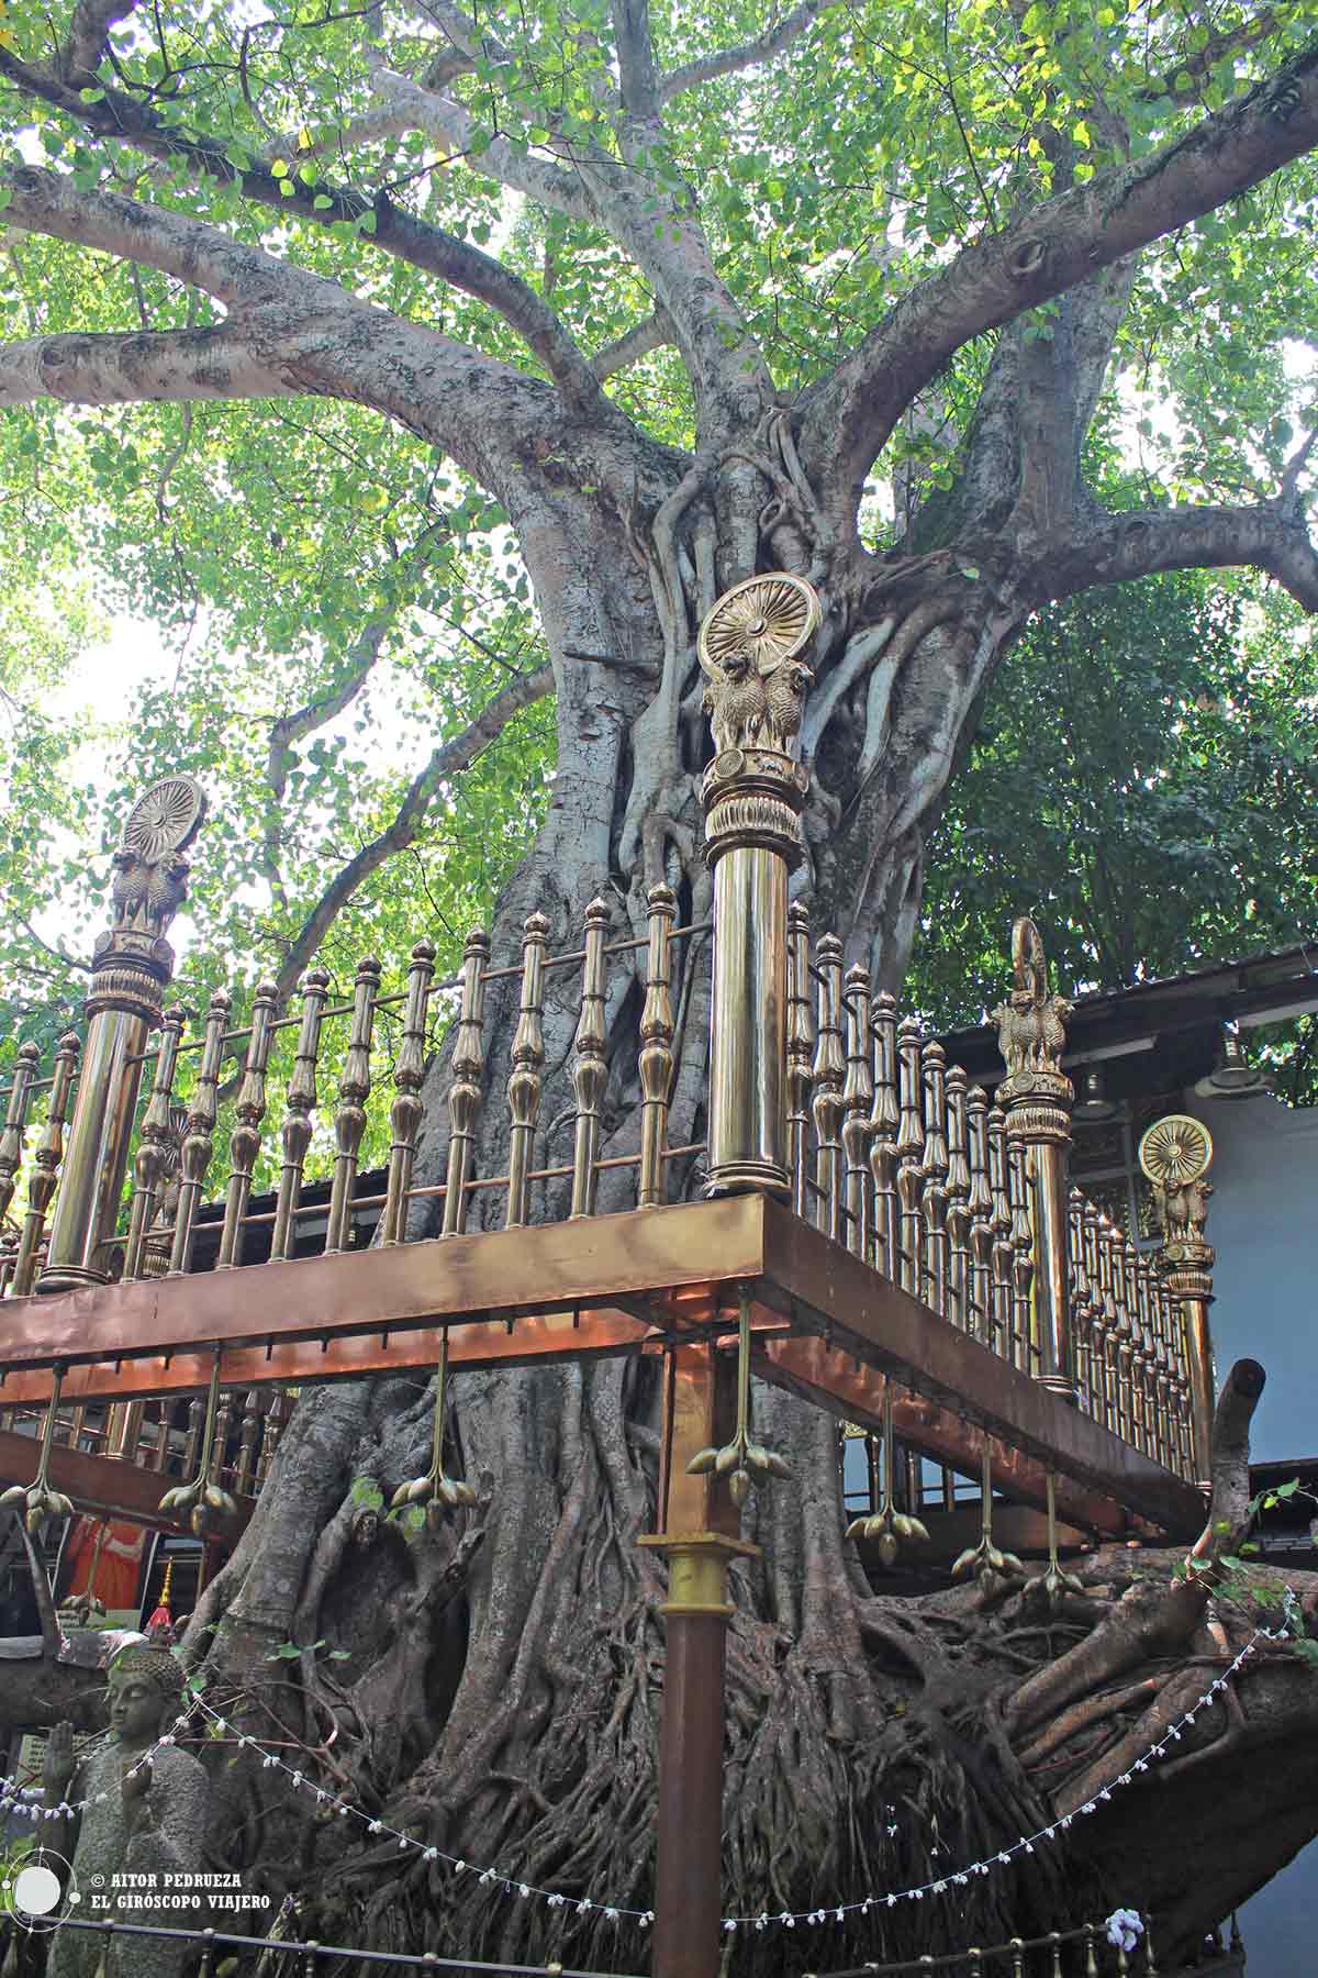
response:
<path id="1" fill-rule="evenodd" d="M 1043 546 L 1033 568 L 1026 568 L 1024 595 L 1043 603 L 1095 584 L 1150 578 L 1158 570 L 1231 566 L 1267 572 L 1306 611 L 1318 611 L 1318 548 L 1298 502 L 1284 494 L 1251 508 L 1134 508 L 1124 514 L 1093 508 L 1087 524 Z"/>

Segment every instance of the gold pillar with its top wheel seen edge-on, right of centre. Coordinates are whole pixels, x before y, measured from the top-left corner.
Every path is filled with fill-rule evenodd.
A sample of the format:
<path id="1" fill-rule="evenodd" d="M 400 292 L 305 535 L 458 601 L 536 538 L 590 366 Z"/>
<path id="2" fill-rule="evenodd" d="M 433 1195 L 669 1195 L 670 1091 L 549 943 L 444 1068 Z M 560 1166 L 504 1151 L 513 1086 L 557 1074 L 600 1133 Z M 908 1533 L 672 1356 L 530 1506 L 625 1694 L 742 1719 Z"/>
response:
<path id="1" fill-rule="evenodd" d="M 998 1086 L 1008 1141 L 1022 1147 L 1033 1228 L 1033 1331 L 1039 1349 L 1035 1379 L 1053 1394 L 1075 1400 L 1071 1300 L 1067 1278 L 1067 1149 L 1075 1086 L 1061 1070 L 1071 1005 L 1051 995 L 1047 959 L 1031 920 L 1012 928 L 1016 987 L 992 1019 L 1008 1076 Z"/>

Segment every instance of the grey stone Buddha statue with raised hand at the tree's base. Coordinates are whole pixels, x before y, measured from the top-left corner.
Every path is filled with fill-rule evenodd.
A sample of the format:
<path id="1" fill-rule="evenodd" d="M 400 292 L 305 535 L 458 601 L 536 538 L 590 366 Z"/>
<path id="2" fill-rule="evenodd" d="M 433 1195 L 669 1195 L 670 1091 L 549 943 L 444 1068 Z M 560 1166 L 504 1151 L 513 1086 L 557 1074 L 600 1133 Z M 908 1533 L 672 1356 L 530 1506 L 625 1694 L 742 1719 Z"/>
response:
<path id="1" fill-rule="evenodd" d="M 81 1764 L 73 1756 L 73 1727 L 55 1725 L 45 1745 L 45 1804 L 65 1806 L 89 1800 L 81 1816 L 47 1822 L 45 1834 L 59 1853 L 69 1853 L 69 1818 L 77 1820 L 73 1883 L 79 1891 L 79 1919 L 87 1923 L 123 1921 L 164 1929 L 204 1929 L 206 1897 L 196 1889 L 196 1907 L 154 1907 L 150 1883 L 117 1885 L 115 1877 L 154 1875 L 164 1893 L 166 1875 L 200 1875 L 209 1782 L 202 1764 L 176 1745 L 152 1751 L 184 1695 L 184 1671 L 162 1648 L 124 1650 L 109 1677 L 111 1729 Z M 188 1895 L 174 1885 L 170 1895 Z M 117 1899 L 132 1895 L 132 1907 L 117 1909 Z M 142 1907 L 140 1899 L 146 1899 Z M 178 1978 L 188 1946 L 170 1938 L 115 1936 L 95 1931 L 55 1931 L 47 1978 L 93 1978 L 105 1956 L 105 1978 Z"/>

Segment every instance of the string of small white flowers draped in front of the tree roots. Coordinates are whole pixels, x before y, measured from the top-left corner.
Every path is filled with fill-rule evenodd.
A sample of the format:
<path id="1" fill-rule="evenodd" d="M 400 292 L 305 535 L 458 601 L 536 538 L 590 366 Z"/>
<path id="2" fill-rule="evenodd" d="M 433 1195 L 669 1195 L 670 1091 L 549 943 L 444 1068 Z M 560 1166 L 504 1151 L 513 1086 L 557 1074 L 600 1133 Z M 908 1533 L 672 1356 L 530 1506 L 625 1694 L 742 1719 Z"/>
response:
<path id="1" fill-rule="evenodd" d="M 1112 1792 L 1116 1792 L 1120 1786 L 1134 1784 L 1136 1774 L 1148 1772 L 1150 1764 L 1154 1764 L 1158 1758 L 1166 1754 L 1168 1745 L 1178 1743 L 1184 1729 L 1195 1721 L 1199 1711 L 1207 1709 L 1213 1697 L 1227 1687 L 1227 1681 L 1249 1660 L 1249 1656 L 1253 1656 L 1261 1640 L 1284 1640 L 1284 1628 L 1278 1628 L 1277 1632 L 1273 1628 L 1255 1628 L 1251 1640 L 1245 1644 L 1239 1656 L 1235 1656 L 1235 1660 L 1227 1663 L 1221 1675 L 1213 1677 L 1203 1695 L 1182 1717 L 1178 1717 L 1176 1723 L 1170 1725 L 1162 1733 L 1162 1737 L 1154 1745 L 1150 1745 L 1140 1758 L 1136 1758 L 1130 1764 L 1126 1772 L 1120 1772 L 1111 1786 L 1103 1786 L 1103 1790 L 1097 1792 L 1093 1800 L 1085 1800 L 1085 1804 L 1079 1806 L 1073 1814 L 1063 1814 L 1059 1820 L 1053 1820 L 1045 1828 L 1037 1828 L 1033 1834 L 1022 1834 L 1022 1838 L 1018 1842 L 1012 1842 L 1010 1847 L 998 1847 L 996 1853 L 986 1855 L 982 1861 L 970 1861 L 966 1867 L 952 1869 L 947 1875 L 941 1875 L 933 1881 L 919 1883 L 919 1887 L 897 1889 L 889 1895 L 865 1895 L 858 1903 L 828 1903 L 822 1909 L 798 1909 L 798 1911 L 784 1909 L 779 1915 L 761 1911 L 759 1917 L 723 1917 L 723 1931 L 727 1933 L 739 1929 L 767 1931 L 773 1925 L 781 1925 L 792 1931 L 796 1929 L 798 1923 L 804 1925 L 846 1923 L 848 1917 L 858 1917 L 858 1915 L 865 1917 L 869 1915 L 869 1911 L 895 1909 L 897 1903 L 921 1903 L 927 1895 L 935 1897 L 947 1895 L 948 1889 L 952 1887 L 968 1885 L 972 1875 L 990 1875 L 994 1873 L 994 1869 L 1010 1865 L 1018 1855 L 1031 1855 L 1035 1847 L 1055 1842 L 1059 1834 L 1063 1834 L 1069 1826 L 1073 1826 L 1073 1822 L 1083 1820 L 1089 1814 L 1097 1814 L 1099 1806 L 1112 1798 Z M 506 1895 L 514 1895 L 524 1901 L 539 1899 L 549 1909 L 571 1909 L 579 1917 L 599 1915 L 607 1923 L 620 1923 L 622 1919 L 626 1919 L 628 1923 L 634 1923 L 642 1931 L 654 1923 L 652 1909 L 628 1909 L 622 1903 L 601 1903 L 589 1895 L 585 1897 L 561 1895 L 557 1889 L 541 1889 L 537 1883 L 522 1881 L 518 1875 L 508 1875 L 504 1869 L 478 1867 L 474 1861 L 466 1861 L 460 1855 L 447 1853 L 443 1847 L 435 1847 L 429 1842 L 419 1842 L 415 1836 L 403 1834 L 399 1828 L 389 1826 L 387 1820 L 379 1820 L 371 1814 L 366 1814 L 362 1812 L 362 1808 L 352 1806 L 350 1800 L 344 1800 L 342 1796 L 330 1792 L 326 1786 L 318 1786 L 314 1778 L 306 1776 L 304 1770 L 287 1764 L 275 1753 L 263 1751 L 259 1739 L 251 1737 L 245 1731 L 239 1733 L 237 1727 L 229 1725 L 227 1717 L 221 1717 L 219 1711 L 213 1711 L 202 1697 L 196 1697 L 194 1701 L 200 1707 L 200 1711 L 215 1725 L 217 1733 L 233 1731 L 237 1735 L 239 1749 L 259 1751 L 261 1766 L 265 1770 L 283 1772 L 298 1790 L 314 1794 L 318 1806 L 332 1808 L 334 1814 L 340 1818 L 356 1820 L 360 1826 L 366 1828 L 370 1836 L 389 1838 L 397 1842 L 399 1853 L 419 1853 L 423 1861 L 447 1861 L 454 1875 L 474 1875 L 482 1887 L 500 1887 Z M 168 1745 L 174 1741 L 166 1737 L 160 1743 Z M 891 1832 L 895 1830 L 889 1828 L 889 1834 Z"/>

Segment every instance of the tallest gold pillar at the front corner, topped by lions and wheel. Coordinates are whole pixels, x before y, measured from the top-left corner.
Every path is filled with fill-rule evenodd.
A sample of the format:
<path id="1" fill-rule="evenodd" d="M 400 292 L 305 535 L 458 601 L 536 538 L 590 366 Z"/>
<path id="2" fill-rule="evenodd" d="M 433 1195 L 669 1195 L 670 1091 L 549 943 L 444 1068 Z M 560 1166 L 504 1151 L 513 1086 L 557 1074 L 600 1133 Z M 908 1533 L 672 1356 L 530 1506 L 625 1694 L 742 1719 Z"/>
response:
<path id="1" fill-rule="evenodd" d="M 786 880 L 810 777 L 790 756 L 820 623 L 804 578 L 735 584 L 700 627 L 715 758 L 701 781 L 713 870 L 705 1195 L 788 1195 Z"/>

